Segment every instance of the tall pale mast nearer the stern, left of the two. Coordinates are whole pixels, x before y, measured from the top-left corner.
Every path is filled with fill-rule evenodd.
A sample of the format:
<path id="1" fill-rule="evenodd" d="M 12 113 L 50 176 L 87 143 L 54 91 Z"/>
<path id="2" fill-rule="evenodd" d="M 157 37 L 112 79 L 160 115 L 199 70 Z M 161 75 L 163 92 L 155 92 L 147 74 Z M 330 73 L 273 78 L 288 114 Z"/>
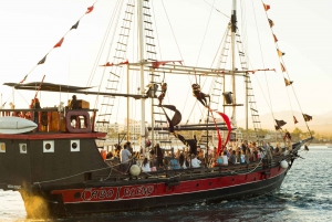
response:
<path id="1" fill-rule="evenodd" d="M 138 50 L 139 50 L 139 62 L 141 62 L 141 94 L 144 94 L 144 30 L 143 30 L 143 0 L 138 0 Z M 145 98 L 141 98 L 141 147 L 143 147 L 143 154 L 145 156 Z"/>

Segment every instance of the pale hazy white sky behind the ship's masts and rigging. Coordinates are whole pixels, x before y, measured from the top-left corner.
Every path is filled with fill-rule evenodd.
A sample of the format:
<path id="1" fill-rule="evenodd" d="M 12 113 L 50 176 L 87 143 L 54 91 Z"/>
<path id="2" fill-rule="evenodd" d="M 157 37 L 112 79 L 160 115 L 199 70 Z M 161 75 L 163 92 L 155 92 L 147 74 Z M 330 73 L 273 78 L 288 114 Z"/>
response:
<path id="1" fill-rule="evenodd" d="M 14 92 L 12 94 L 11 88 L 2 85 L 7 82 L 19 83 L 28 73 L 27 83 L 41 81 L 45 75 L 44 82 L 80 86 L 87 84 L 115 1 L 111 3 L 107 0 L 98 0 L 94 10 L 80 20 L 79 29 L 69 33 L 68 31 L 94 2 L 95 0 L 11 0 L 1 2 L 0 92 L 1 103 L 7 102 L 7 108 L 8 103 L 12 101 L 17 107 L 28 107 L 34 95 L 33 92 Z M 231 1 L 165 0 L 156 2 L 164 2 L 167 10 L 166 17 L 163 6 L 158 8 L 156 3 L 154 4 L 156 14 L 160 15 L 160 19 L 157 20 L 159 27 L 156 32 L 159 35 L 158 43 L 163 52 L 163 54 L 160 53 L 163 60 L 184 60 L 186 65 L 209 67 L 225 32 L 225 24 L 229 20 L 217 10 L 229 14 L 230 8 L 226 7 L 226 3 L 230 4 Z M 258 89 L 256 101 L 263 101 L 259 104 L 260 114 L 269 113 L 269 107 L 272 107 L 273 112 L 292 108 L 312 116 L 332 110 L 332 103 L 330 103 L 332 101 L 330 61 L 332 2 L 329 0 L 320 0 L 319 3 L 311 0 L 267 0 L 263 2 L 270 6 L 267 13 L 274 22 L 272 29 L 279 40 L 278 46 L 286 53 L 282 59 L 287 76 L 294 82 L 295 96 L 292 88 L 286 88 L 282 82 L 286 73 L 280 71 L 278 56 L 274 53 L 276 45 L 267 25 L 261 1 L 246 0 L 248 28 L 242 36 L 246 42 L 253 42 L 248 46 L 248 54 L 251 56 L 250 63 L 253 68 L 277 70 L 276 73 L 262 72 L 252 75 L 253 88 Z M 210 4 L 214 4 L 217 10 L 211 9 Z M 241 1 L 238 2 L 238 7 L 241 7 Z M 251 7 L 255 7 L 255 13 Z M 259 35 L 257 35 L 257 28 L 262 28 Z M 249 36 L 251 34 L 253 38 Z M 64 35 L 63 45 L 52 50 L 53 45 Z M 262 46 L 266 45 L 269 45 L 267 50 L 262 50 Z M 35 66 L 48 53 L 46 62 Z M 260 64 L 262 62 L 259 59 L 260 55 L 264 56 L 263 65 Z M 128 57 L 128 60 L 132 62 L 134 57 Z M 193 82 L 193 78 L 188 80 L 184 76 L 176 76 L 176 78 L 177 82 L 168 87 L 167 101 L 176 103 L 180 109 L 185 109 L 184 104 L 187 107 L 195 101 L 193 102 L 194 98 L 188 89 L 181 92 L 180 88 L 185 83 Z M 93 80 L 93 84 L 97 86 L 100 83 L 97 80 Z M 133 84 L 132 87 L 136 86 Z M 208 91 L 208 88 L 204 88 L 204 91 Z M 69 99 L 71 95 L 42 94 L 40 97 L 43 107 L 51 107 L 58 105 L 60 101 Z M 89 101 L 93 104 L 95 98 L 90 97 Z M 268 101 L 267 104 L 264 101 Z M 239 99 L 239 103 L 243 103 L 243 99 Z M 137 102 L 132 102 L 132 104 L 134 108 L 139 106 Z M 186 108 L 185 113 L 190 113 L 190 109 Z M 243 114 L 241 108 L 238 112 Z M 136 112 L 132 113 L 135 114 L 133 118 L 139 117 Z M 197 120 L 198 116 L 199 114 L 196 117 L 194 115 L 193 118 Z"/>

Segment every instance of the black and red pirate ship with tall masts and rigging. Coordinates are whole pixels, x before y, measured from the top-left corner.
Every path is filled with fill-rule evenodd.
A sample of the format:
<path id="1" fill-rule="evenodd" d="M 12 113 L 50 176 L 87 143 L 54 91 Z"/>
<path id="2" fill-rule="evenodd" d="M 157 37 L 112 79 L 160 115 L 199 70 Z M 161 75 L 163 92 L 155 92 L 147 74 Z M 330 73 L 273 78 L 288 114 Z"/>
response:
<path id="1" fill-rule="evenodd" d="M 92 13 L 96 7 L 97 2 L 87 9 L 85 15 Z M 267 11 L 269 6 L 263 4 L 262 8 Z M 230 140 L 234 142 L 232 146 L 239 146 L 235 144 L 238 127 L 236 108 L 242 108 L 246 117 L 249 117 L 249 110 L 251 112 L 256 138 L 263 140 L 264 138 L 259 135 L 260 121 L 250 75 L 259 71 L 274 71 L 247 66 L 246 52 L 241 46 L 237 24 L 236 0 L 232 1 L 225 39 L 218 50 L 220 57 L 215 67 L 187 66 L 184 65 L 183 60 L 157 59 L 149 1 L 129 0 L 123 7 L 117 6 L 116 9 L 125 9 L 122 13 L 123 23 L 117 24 L 121 27 L 121 31 L 117 32 L 120 40 L 117 42 L 113 40 L 115 49 L 113 61 L 104 59 L 104 63 L 100 65 L 103 73 L 110 75 L 107 77 L 103 75 L 100 83 L 103 86 L 100 86 L 97 91 L 94 91 L 92 86 L 72 86 L 43 81 L 25 83 L 29 75 L 25 75 L 21 83 L 4 84 L 15 91 L 35 91 L 35 97 L 39 92 L 65 93 L 75 94 L 80 98 L 96 96 L 98 103 L 94 108 L 82 99 L 79 101 L 77 107 L 38 108 L 32 105 L 30 108 L 2 109 L 0 189 L 19 191 L 24 201 L 27 214 L 31 218 L 108 213 L 203 201 L 242 199 L 280 189 L 288 170 L 299 157 L 302 145 L 309 142 L 312 137 L 284 144 L 289 151 L 283 155 L 272 158 L 266 156 L 261 160 L 242 165 L 218 166 L 215 162 L 208 165 L 206 161 L 206 165 L 200 168 L 158 169 L 142 172 L 136 166 L 132 166 L 128 171 L 121 171 L 120 165 L 110 163 L 103 159 L 97 144 L 105 139 L 107 133 L 97 131 L 96 125 L 114 124 L 111 123 L 110 116 L 120 106 L 122 112 L 126 110 L 129 118 L 132 101 L 135 103 L 141 101 L 141 107 L 136 112 L 141 113 L 139 141 L 142 155 L 145 157 L 149 156 L 147 147 L 149 142 L 146 141 L 154 145 L 158 142 L 157 135 L 165 134 L 167 138 L 177 139 L 188 146 L 189 154 L 194 155 L 197 146 L 205 142 L 207 148 L 205 158 L 208 158 L 208 154 L 216 152 L 214 155 L 217 155 L 222 151 L 229 146 Z M 136 11 L 138 32 L 133 34 L 131 25 Z M 272 24 L 270 19 L 267 21 L 270 25 Z M 80 20 L 71 30 L 77 29 Z M 136 38 L 139 49 L 137 62 L 129 62 L 126 59 L 131 35 Z M 60 47 L 64 38 L 53 49 Z M 239 61 L 236 60 L 237 50 Z M 280 54 L 279 51 L 277 52 Z M 230 68 L 225 66 L 227 60 L 231 62 Z M 45 62 L 46 55 L 38 63 L 38 66 Z M 238 65 L 241 68 L 237 68 Z M 281 66 L 284 73 L 283 63 Z M 122 82 L 127 85 L 134 84 L 133 76 L 139 76 L 138 93 L 133 93 L 129 86 L 126 87 L 125 93 L 120 92 Z M 183 123 L 184 114 L 173 105 L 179 97 L 169 96 L 169 104 L 166 104 L 167 94 L 172 91 L 170 78 L 179 81 L 178 76 L 191 76 L 191 82 L 181 83 L 181 86 L 187 85 L 189 89 L 177 88 L 177 92 L 193 92 L 194 107 L 201 110 L 200 119 L 204 120 L 198 123 L 193 120 L 193 124 L 188 124 L 189 120 Z M 228 84 L 228 78 L 230 84 Z M 239 95 L 236 93 L 238 78 L 245 80 L 245 95 L 247 95 L 245 105 L 238 104 Z M 203 80 L 210 81 L 212 86 L 204 87 Z M 165 84 L 166 81 L 168 84 Z M 288 81 L 286 85 L 289 86 L 291 83 Z M 162 86 L 160 91 L 158 86 Z M 127 103 L 116 104 L 117 98 L 125 98 Z M 219 99 L 225 101 L 219 102 Z M 149 114 L 146 114 L 147 105 L 149 105 Z M 149 126 L 146 125 L 146 116 L 152 116 L 148 120 Z M 277 130 L 281 130 L 286 124 L 277 119 L 272 121 L 276 121 Z M 246 128 L 248 128 L 248 120 Z M 129 121 L 127 121 L 127 130 L 129 130 Z M 185 131 L 194 130 L 197 134 L 195 139 L 185 134 Z M 215 135 L 216 141 L 211 139 L 211 135 Z M 210 146 L 215 146 L 216 150 L 208 150 Z"/>

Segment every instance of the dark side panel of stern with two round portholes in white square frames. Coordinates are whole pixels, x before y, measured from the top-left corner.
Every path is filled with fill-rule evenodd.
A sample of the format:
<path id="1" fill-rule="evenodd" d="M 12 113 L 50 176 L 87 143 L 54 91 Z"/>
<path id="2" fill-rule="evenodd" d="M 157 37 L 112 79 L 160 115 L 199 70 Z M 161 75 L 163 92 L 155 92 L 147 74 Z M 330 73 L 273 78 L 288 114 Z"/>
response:
<path id="1" fill-rule="evenodd" d="M 33 140 L 31 146 L 32 179 L 41 184 L 82 182 L 84 172 L 106 167 L 93 139 Z"/>

